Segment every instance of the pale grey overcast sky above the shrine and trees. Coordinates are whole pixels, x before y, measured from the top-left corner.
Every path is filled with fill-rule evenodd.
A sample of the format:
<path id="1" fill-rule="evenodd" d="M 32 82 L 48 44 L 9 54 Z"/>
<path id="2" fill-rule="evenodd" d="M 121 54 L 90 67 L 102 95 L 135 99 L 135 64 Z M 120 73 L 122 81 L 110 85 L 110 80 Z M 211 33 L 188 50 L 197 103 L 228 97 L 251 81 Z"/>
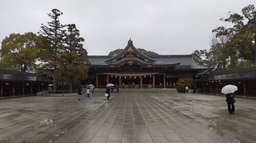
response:
<path id="1" fill-rule="evenodd" d="M 58 9 L 61 24 L 76 24 L 88 55 L 108 55 L 130 38 L 136 48 L 161 55 L 191 54 L 209 50 L 211 30 L 230 27 L 221 17 L 242 14 L 251 4 L 255 0 L 0 0 L 0 41 L 11 33 L 37 33 Z"/>

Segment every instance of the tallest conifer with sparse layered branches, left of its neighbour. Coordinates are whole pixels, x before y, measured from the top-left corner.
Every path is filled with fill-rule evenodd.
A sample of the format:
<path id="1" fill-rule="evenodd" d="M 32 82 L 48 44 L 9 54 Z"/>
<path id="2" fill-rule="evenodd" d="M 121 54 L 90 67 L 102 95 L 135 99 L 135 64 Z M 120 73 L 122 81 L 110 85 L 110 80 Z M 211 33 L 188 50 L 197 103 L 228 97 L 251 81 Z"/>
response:
<path id="1" fill-rule="evenodd" d="M 58 9 L 53 9 L 52 13 L 48 16 L 52 21 L 47 22 L 48 26 L 41 24 L 42 30 L 38 32 L 42 37 L 44 37 L 44 47 L 41 47 L 40 60 L 44 62 L 44 68 L 57 70 L 57 66 L 60 64 L 60 54 L 63 52 L 63 38 L 65 36 L 65 30 L 63 30 L 64 25 L 60 24 L 59 16 L 62 15 Z M 55 73 L 50 74 L 53 77 L 53 90 L 56 90 L 56 79 Z"/>

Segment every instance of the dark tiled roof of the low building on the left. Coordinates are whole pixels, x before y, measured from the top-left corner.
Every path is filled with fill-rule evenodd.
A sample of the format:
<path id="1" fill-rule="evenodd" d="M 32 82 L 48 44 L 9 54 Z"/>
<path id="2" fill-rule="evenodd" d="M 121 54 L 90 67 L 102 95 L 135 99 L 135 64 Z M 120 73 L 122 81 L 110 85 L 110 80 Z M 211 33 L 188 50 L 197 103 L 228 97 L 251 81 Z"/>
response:
<path id="1" fill-rule="evenodd" d="M 40 74 L 10 71 L 0 69 L 0 80 L 2 81 L 40 81 L 40 82 L 53 82 Z"/>

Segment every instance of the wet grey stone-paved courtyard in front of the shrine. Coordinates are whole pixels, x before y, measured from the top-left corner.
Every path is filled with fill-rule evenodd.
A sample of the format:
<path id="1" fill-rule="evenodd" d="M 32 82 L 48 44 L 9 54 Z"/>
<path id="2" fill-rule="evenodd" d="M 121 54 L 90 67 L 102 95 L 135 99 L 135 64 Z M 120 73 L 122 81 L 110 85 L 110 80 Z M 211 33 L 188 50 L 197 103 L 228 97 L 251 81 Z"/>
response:
<path id="1" fill-rule="evenodd" d="M 0 142 L 256 142 L 256 100 L 169 91 L 0 100 Z"/>

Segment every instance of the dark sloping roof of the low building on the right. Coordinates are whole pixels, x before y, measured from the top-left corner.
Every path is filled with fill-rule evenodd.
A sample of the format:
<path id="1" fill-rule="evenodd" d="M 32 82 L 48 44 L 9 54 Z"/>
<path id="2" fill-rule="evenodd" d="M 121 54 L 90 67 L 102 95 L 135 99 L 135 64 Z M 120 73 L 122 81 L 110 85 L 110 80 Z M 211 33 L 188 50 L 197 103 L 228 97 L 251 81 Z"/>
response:
<path id="1" fill-rule="evenodd" d="M 198 82 L 212 81 L 212 80 L 248 79 L 248 78 L 256 78 L 256 67 L 210 73 L 207 76 L 198 79 Z"/>

